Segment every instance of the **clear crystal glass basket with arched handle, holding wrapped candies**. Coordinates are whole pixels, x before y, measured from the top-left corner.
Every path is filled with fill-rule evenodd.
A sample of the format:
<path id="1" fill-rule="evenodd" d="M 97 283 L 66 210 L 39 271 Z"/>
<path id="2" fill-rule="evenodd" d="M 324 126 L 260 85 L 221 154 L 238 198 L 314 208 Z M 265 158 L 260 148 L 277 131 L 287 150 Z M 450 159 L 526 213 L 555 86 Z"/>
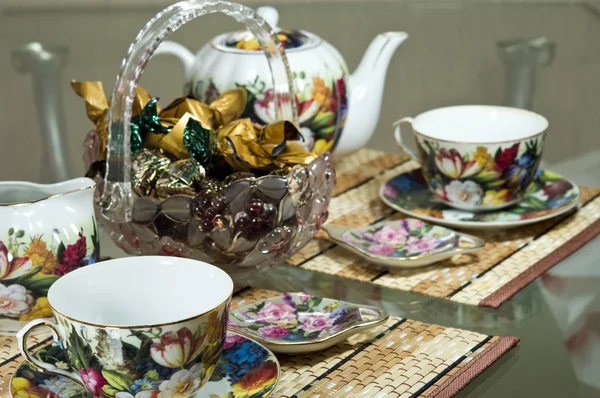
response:
<path id="1" fill-rule="evenodd" d="M 129 254 L 206 261 L 239 283 L 249 272 L 282 263 L 315 235 L 327 219 L 335 173 L 333 159 L 325 153 L 287 174 L 228 178 L 218 194 L 173 195 L 161 201 L 133 192 L 129 122 L 144 67 L 168 34 L 211 13 L 235 18 L 258 39 L 272 72 L 277 119 L 297 123 L 283 47 L 261 17 L 248 7 L 226 1 L 174 4 L 148 22 L 123 61 L 112 95 L 106 173 L 98 184 L 96 210 L 112 239 Z"/>

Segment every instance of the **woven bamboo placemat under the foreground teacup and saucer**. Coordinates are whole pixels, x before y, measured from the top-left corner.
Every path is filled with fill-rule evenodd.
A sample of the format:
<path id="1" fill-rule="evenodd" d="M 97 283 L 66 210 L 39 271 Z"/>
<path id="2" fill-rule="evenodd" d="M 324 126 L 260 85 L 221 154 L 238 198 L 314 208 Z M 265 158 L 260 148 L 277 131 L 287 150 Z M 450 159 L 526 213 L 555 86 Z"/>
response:
<path id="1" fill-rule="evenodd" d="M 277 294 L 248 288 L 232 306 Z M 47 344 L 46 336 L 32 344 Z M 451 397 L 518 342 L 391 317 L 328 350 L 278 356 L 282 375 L 273 397 Z M 10 396 L 10 377 L 21 362 L 16 339 L 0 337 L 0 397 Z"/>

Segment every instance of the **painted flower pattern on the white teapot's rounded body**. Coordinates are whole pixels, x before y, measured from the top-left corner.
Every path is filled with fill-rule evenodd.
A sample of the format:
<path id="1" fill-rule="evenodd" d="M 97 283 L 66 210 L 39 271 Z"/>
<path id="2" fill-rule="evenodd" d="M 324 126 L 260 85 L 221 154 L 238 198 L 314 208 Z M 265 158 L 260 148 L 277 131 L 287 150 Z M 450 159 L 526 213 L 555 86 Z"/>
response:
<path id="1" fill-rule="evenodd" d="M 337 137 L 342 134 L 348 114 L 346 75 L 324 77 L 292 72 L 292 77 L 296 89 L 298 121 L 306 148 L 316 153 L 332 150 Z M 248 91 L 243 117 L 261 124 L 277 120 L 273 89 L 267 89 L 266 82 L 257 76 L 253 81 L 236 82 L 235 85 Z M 203 80 L 199 80 L 190 94 L 210 103 L 229 88 L 218 88 L 212 79 L 206 85 Z"/>

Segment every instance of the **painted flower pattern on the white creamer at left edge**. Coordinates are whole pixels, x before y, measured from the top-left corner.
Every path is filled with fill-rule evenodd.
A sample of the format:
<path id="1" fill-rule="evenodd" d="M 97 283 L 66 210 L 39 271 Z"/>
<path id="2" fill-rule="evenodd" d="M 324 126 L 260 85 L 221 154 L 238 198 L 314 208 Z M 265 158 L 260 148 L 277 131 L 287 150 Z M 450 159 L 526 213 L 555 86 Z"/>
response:
<path id="1" fill-rule="evenodd" d="M 95 263 L 99 247 L 93 218 L 68 237 L 58 229 L 48 237 L 9 228 L 8 240 L 0 240 L 0 319 L 51 317 L 46 297 L 50 286 L 60 276 Z"/>

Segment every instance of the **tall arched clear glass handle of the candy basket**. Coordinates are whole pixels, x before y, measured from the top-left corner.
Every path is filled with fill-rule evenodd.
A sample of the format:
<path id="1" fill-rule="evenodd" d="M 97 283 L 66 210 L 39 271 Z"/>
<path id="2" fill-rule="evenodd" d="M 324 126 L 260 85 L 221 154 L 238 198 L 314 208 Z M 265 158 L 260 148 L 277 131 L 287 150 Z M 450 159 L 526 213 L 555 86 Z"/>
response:
<path id="1" fill-rule="evenodd" d="M 271 70 L 278 120 L 298 123 L 293 80 L 283 46 L 274 30 L 249 7 L 228 1 L 186 0 L 152 18 L 138 33 L 121 64 L 108 114 L 109 141 L 102 215 L 113 222 L 131 221 L 130 121 L 135 88 L 156 48 L 172 32 L 197 17 L 222 13 L 241 22 L 258 39 Z"/>

